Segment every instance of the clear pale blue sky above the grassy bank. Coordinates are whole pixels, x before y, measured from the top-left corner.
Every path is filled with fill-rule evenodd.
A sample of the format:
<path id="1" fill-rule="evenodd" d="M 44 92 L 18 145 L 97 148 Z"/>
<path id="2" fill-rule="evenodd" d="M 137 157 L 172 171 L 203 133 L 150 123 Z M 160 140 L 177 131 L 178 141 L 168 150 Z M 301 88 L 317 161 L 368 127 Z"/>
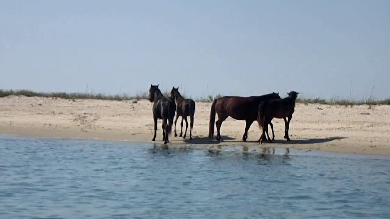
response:
<path id="1" fill-rule="evenodd" d="M 0 1 L 0 89 L 390 96 L 388 0 Z"/>

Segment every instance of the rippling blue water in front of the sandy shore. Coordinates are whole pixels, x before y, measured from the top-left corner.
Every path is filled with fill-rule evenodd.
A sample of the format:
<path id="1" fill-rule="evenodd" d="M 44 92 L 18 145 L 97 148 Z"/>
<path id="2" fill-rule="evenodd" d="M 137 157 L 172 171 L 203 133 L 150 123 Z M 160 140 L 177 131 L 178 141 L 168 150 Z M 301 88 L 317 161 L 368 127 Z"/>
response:
<path id="1" fill-rule="evenodd" d="M 390 217 L 388 157 L 255 149 L 0 136 L 0 218 Z"/>

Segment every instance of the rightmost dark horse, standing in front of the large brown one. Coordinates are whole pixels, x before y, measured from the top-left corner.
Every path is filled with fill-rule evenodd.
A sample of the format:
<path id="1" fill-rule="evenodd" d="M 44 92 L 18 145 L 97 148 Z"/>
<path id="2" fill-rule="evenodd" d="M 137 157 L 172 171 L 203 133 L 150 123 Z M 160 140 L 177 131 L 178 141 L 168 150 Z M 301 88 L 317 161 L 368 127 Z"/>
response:
<path id="1" fill-rule="evenodd" d="M 285 124 L 284 138 L 290 141 L 289 138 L 289 127 L 290 121 L 293 117 L 295 100 L 298 97 L 297 92 L 291 91 L 287 93 L 288 97 L 283 99 L 273 99 L 261 101 L 259 104 L 259 112 L 257 114 L 257 122 L 259 127 L 263 129 L 262 134 L 259 138 L 259 144 L 261 144 L 265 138 L 265 134 L 268 134 L 268 124 L 271 123 L 273 118 L 283 118 Z M 286 120 L 286 117 L 288 120 Z M 268 136 L 269 138 L 269 136 Z M 272 141 L 269 141 L 272 142 Z"/>

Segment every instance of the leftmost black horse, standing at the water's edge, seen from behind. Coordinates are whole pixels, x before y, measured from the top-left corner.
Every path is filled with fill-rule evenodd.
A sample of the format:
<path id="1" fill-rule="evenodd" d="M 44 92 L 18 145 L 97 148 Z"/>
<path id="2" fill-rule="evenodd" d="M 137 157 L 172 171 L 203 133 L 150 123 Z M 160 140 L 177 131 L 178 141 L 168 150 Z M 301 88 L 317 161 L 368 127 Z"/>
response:
<path id="1" fill-rule="evenodd" d="M 156 140 L 157 119 L 160 118 L 163 120 L 163 141 L 164 144 L 167 144 L 167 142 L 169 142 L 169 135 L 171 133 L 173 119 L 175 117 L 175 100 L 171 99 L 170 97 L 164 97 L 158 88 L 158 85 L 156 86 L 150 84 L 149 101 L 153 102 L 152 111 L 154 120 L 154 136 L 152 141 Z"/>

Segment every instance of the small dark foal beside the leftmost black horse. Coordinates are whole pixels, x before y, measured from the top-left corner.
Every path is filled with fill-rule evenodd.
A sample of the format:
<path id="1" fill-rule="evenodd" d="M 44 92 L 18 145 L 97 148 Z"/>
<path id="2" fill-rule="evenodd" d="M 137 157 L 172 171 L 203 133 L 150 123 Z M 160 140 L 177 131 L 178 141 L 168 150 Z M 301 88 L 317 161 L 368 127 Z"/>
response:
<path id="1" fill-rule="evenodd" d="M 194 125 L 194 114 L 195 114 L 195 101 L 191 99 L 184 99 L 184 97 L 179 93 L 179 87 L 172 87 L 170 92 L 170 97 L 176 100 L 176 120 L 175 120 L 175 137 L 176 134 L 176 123 L 177 119 L 181 116 L 181 131 L 180 137 L 183 135 L 183 119 L 186 121 L 186 131 L 184 132 L 183 138 L 186 138 L 188 121 L 187 117 L 190 117 L 190 140 L 192 139 L 192 128 Z"/>

